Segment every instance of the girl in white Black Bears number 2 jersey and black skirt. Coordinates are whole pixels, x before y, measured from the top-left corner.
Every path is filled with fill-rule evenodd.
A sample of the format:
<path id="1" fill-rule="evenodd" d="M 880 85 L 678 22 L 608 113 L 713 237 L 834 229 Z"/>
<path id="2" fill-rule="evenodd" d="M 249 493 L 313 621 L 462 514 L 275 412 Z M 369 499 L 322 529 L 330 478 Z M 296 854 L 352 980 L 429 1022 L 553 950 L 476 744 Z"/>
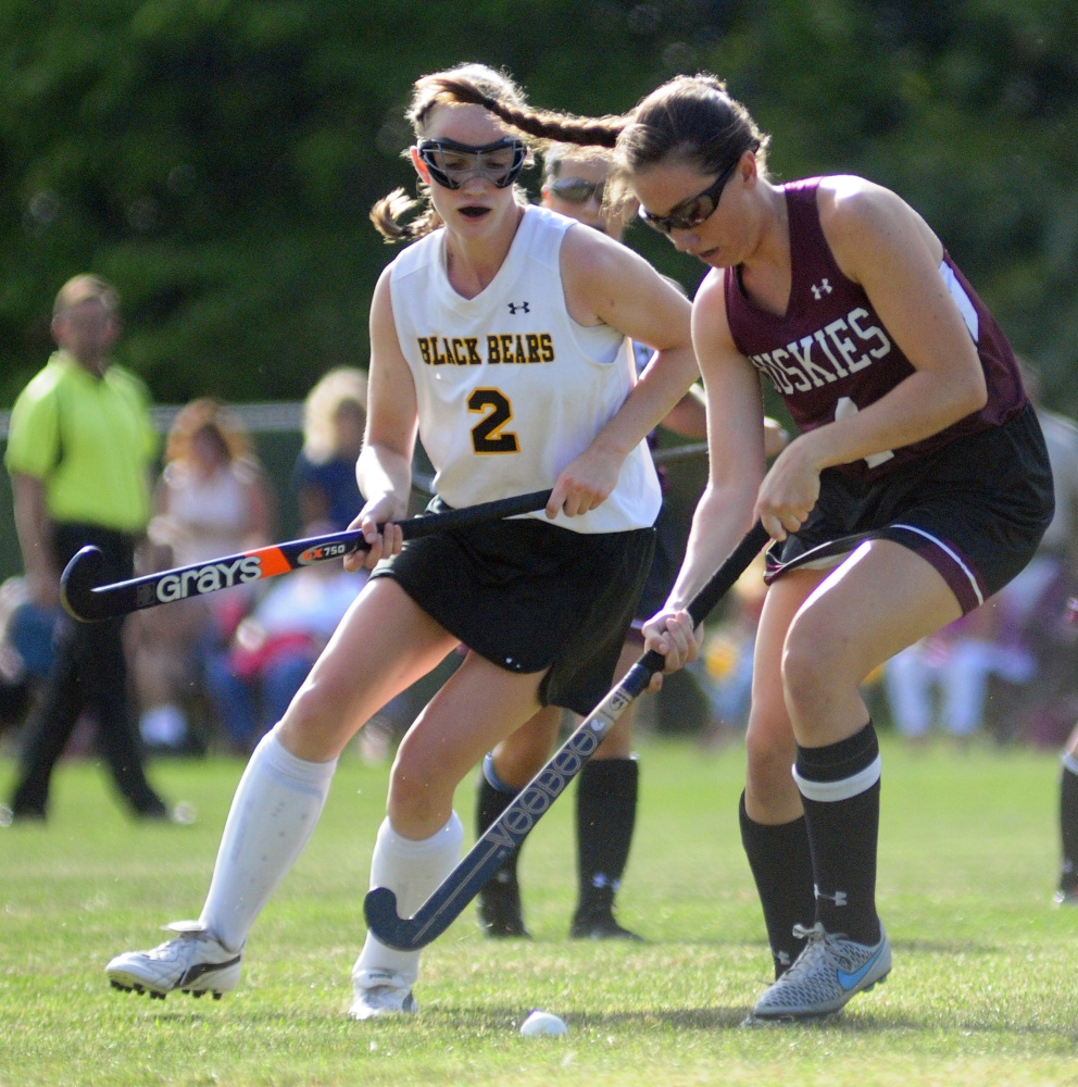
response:
<path id="1" fill-rule="evenodd" d="M 479 65 L 489 93 L 521 101 Z M 587 712 L 610 686 L 647 574 L 659 485 L 643 439 L 697 375 L 688 303 L 641 258 L 525 208 L 528 149 L 487 110 L 419 79 L 409 116 L 425 214 L 399 190 L 372 213 L 417 237 L 381 275 L 371 311 L 367 429 L 358 464 L 378 566 L 283 720 L 251 758 L 197 922 L 117 955 L 112 984 L 164 996 L 237 984 L 248 933 L 317 821 L 336 760 L 392 697 L 463 642 L 469 652 L 402 741 L 372 884 L 414 912 L 459 860 L 453 791 L 482 754 L 556 703 Z M 654 348 L 639 382 L 627 338 Z M 435 505 L 547 487 L 544 513 L 402 547 L 416 435 Z M 381 526 L 381 527 L 379 527 Z M 369 934 L 350 1014 L 415 1011 L 418 952 Z"/>

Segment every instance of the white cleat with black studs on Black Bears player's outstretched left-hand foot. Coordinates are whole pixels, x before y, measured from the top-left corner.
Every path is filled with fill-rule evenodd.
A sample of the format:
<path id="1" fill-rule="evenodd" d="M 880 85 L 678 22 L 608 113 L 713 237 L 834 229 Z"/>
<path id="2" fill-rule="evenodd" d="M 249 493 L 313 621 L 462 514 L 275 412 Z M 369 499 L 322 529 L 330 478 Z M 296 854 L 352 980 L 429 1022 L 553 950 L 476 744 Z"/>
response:
<path id="1" fill-rule="evenodd" d="M 229 951 L 197 921 L 177 921 L 164 928 L 176 935 L 152 951 L 117 954 L 105 966 L 114 989 L 147 992 L 159 1000 L 176 989 L 192 997 L 212 992 L 220 1000 L 222 992 L 236 988 L 242 949 Z"/>

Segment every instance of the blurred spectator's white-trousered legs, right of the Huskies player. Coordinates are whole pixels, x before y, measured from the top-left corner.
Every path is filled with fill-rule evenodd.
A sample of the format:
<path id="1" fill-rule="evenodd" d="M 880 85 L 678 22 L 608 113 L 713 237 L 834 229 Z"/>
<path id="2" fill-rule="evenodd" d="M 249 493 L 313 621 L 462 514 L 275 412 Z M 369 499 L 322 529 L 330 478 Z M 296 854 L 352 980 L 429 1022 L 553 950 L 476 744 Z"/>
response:
<path id="1" fill-rule="evenodd" d="M 928 739 L 936 721 L 965 745 L 985 723 L 990 676 L 1027 684 L 1037 672 L 1001 594 L 936 634 L 892 657 L 883 666 L 891 714 L 914 744 Z"/>

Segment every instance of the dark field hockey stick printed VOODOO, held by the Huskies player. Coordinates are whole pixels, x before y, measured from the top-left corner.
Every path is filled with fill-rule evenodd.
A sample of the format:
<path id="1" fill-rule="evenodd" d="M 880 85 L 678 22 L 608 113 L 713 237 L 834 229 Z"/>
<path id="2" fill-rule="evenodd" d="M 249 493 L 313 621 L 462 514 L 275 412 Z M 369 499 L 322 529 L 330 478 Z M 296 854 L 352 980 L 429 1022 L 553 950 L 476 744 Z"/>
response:
<path id="1" fill-rule="evenodd" d="M 688 607 L 693 625 L 730 590 L 767 542 L 767 532 L 757 521 L 719 566 L 712 579 Z M 411 917 L 397 913 L 397 896 L 388 887 L 375 887 L 363 900 L 371 932 L 383 944 L 399 951 L 416 951 L 436 940 L 461 915 L 482 885 L 516 849 L 548 808 L 602 744 L 625 708 L 663 670 L 662 653 L 644 653 L 606 697 L 580 723 L 542 770 L 514 797 L 512 803 L 487 828 L 467 855 L 441 882 Z"/>

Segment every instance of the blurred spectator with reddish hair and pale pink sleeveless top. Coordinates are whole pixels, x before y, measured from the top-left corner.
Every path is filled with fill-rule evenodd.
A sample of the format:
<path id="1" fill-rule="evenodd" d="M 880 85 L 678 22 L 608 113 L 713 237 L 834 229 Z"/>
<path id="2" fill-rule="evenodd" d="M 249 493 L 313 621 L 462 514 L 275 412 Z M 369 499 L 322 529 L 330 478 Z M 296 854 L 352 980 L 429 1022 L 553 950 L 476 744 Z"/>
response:
<path id="1" fill-rule="evenodd" d="M 270 487 L 235 412 L 203 398 L 176 416 L 150 522 L 150 566 L 167 570 L 271 541 Z M 176 601 L 137 615 L 130 650 L 143 740 L 190 750 L 190 701 L 209 654 L 223 646 L 254 600 L 254 584 Z M 187 704 L 185 704 L 187 703 Z"/>

